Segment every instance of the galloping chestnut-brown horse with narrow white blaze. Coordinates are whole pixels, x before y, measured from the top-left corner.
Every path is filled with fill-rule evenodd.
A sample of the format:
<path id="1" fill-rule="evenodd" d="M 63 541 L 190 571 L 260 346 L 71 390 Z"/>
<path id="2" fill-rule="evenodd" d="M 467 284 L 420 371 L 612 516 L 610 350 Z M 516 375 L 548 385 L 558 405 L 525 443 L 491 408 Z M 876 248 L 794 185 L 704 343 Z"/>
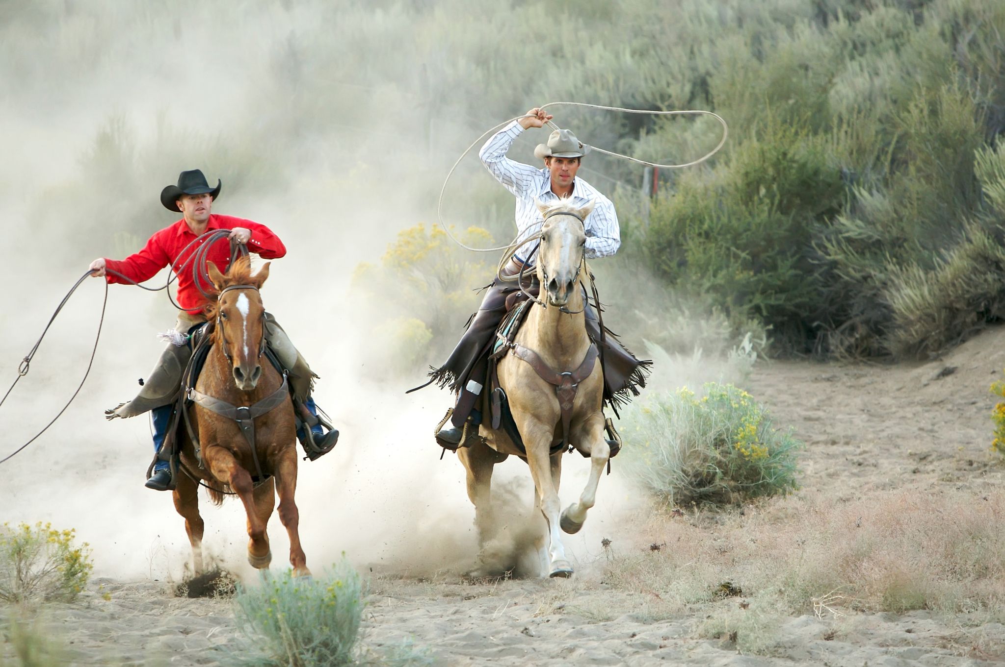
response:
<path id="1" fill-rule="evenodd" d="M 207 273 L 218 294 L 207 314 L 210 322 L 215 321 L 212 347 L 193 392 L 196 402 L 188 408 L 200 448 L 197 451 L 186 428 L 179 429 L 183 437 L 181 466 L 187 472 L 178 474 L 174 491 L 175 509 L 185 518 L 192 543 L 195 570 L 202 571 L 203 521 L 198 485 L 190 475 L 206 483 L 217 505 L 228 487 L 244 504 L 250 538 L 248 562 L 259 569 L 267 568 L 272 560 L 265 527 L 278 493 L 279 520 L 289 534 L 289 564 L 294 574 L 310 575 L 293 501 L 296 438 L 292 401 L 285 378 L 262 356 L 265 308 L 258 290 L 268 278 L 268 264 L 252 276 L 246 257 L 231 264 L 226 275 L 209 262 Z M 244 417 L 243 422 L 220 413 L 228 410 L 237 419 Z M 250 437 L 245 435 L 248 432 Z M 253 450 L 249 439 L 254 442 Z"/>

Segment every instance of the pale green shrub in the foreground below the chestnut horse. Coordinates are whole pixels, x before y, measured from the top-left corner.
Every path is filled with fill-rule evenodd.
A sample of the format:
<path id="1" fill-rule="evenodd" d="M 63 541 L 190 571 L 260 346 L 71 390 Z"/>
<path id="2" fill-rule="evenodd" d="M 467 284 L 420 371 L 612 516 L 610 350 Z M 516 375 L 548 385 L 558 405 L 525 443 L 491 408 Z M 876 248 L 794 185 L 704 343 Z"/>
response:
<path id="1" fill-rule="evenodd" d="M 240 587 L 234 605 L 244 641 L 230 664 L 335 667 L 359 654 L 363 585 L 345 559 L 327 577 L 264 573 L 259 586 Z"/>

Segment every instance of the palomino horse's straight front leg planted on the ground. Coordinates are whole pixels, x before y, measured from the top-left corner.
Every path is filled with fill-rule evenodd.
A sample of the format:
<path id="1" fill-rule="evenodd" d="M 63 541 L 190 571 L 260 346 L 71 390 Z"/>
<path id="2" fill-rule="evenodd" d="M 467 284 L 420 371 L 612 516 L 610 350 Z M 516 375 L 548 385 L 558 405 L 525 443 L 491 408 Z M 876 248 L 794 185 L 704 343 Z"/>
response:
<path id="1" fill-rule="evenodd" d="M 520 432 L 524 435 L 527 446 L 527 463 L 534 478 L 534 487 L 541 502 L 541 514 L 548 523 L 548 555 L 551 558 L 550 567 L 546 569 L 549 577 L 571 577 L 572 564 L 566 560 L 565 547 L 562 545 L 562 531 L 559 528 L 559 513 L 562 510 L 559 502 L 559 490 L 556 484 L 561 472 L 561 463 L 553 468 L 553 457 L 549 455 L 552 443 L 553 425 L 545 425 L 540 419 L 531 416 L 514 415 Z M 553 477 L 553 470 L 555 476 Z"/>

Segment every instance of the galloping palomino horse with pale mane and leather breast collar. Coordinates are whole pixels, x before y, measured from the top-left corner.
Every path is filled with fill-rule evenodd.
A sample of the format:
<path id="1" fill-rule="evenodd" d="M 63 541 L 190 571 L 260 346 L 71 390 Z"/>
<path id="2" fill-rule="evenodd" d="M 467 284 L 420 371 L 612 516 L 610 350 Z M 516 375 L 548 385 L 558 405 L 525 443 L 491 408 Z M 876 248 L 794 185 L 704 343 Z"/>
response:
<path id="1" fill-rule="evenodd" d="M 603 371 L 596 360 L 597 349 L 586 332 L 585 297 L 580 282 L 586 244 L 583 221 L 593 205 L 580 209 L 571 203 L 551 207 L 539 203 L 538 208 L 545 223 L 536 270 L 547 294 L 532 306 L 515 345 L 497 367 L 499 385 L 509 396 L 527 453 L 520 451 L 502 429 L 494 430 L 485 422 L 478 429 L 484 441 L 472 438 L 474 442 L 457 453 L 467 470 L 467 495 L 474 504 L 475 525 L 482 543 L 485 529 L 491 524 L 488 515 L 493 465 L 509 454 L 527 461 L 534 478 L 535 510 L 540 510 L 545 519 L 536 543 L 543 573 L 569 577 L 573 568 L 566 559 L 560 527 L 566 533 L 582 528 L 610 455 L 601 411 Z M 561 383 L 563 373 L 567 374 L 567 385 L 578 380 L 578 389 L 573 388 L 572 395 L 568 388 L 565 392 L 557 390 L 555 382 L 544 379 L 547 376 Z M 568 409 L 563 414 L 561 401 L 567 408 L 571 403 L 571 414 Z M 566 450 L 563 442 L 590 456 L 591 470 L 579 503 L 560 515 L 559 478 Z"/>

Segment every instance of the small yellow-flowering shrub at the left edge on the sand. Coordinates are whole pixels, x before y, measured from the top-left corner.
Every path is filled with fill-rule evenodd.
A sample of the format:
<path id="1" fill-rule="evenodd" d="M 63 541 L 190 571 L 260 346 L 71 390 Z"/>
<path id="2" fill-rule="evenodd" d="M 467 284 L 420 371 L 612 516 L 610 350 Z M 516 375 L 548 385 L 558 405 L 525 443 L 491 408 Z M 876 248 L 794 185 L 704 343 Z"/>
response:
<path id="1" fill-rule="evenodd" d="M 0 527 L 0 600 L 71 602 L 93 570 L 87 543 L 74 545 L 73 529 L 41 522 Z"/>

